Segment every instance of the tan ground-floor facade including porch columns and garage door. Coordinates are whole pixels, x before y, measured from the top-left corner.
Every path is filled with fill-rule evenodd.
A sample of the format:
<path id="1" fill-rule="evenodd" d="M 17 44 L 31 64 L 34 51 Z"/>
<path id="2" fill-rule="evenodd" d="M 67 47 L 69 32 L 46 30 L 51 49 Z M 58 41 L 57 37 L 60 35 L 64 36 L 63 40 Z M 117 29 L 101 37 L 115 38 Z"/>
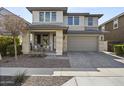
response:
<path id="1" fill-rule="evenodd" d="M 44 30 L 32 30 L 30 32 L 44 32 Z M 69 44 L 74 40 L 73 46 L 75 46 L 74 51 L 77 48 L 85 48 L 85 49 L 77 49 L 81 51 L 107 51 L 107 41 L 104 41 L 104 35 L 99 34 L 63 34 L 63 30 L 46 30 L 45 32 L 49 32 L 49 44 L 50 51 L 53 51 L 54 44 L 56 46 L 56 55 L 62 55 L 63 52 L 70 51 L 71 47 Z M 56 34 L 56 40 L 53 42 L 53 32 Z M 76 40 L 73 37 L 76 37 Z M 101 38 L 102 37 L 102 38 Z M 84 40 L 85 39 L 85 40 Z M 34 41 L 34 35 L 32 34 L 32 40 Z M 82 42 L 81 42 L 82 41 Z M 53 44 L 54 43 L 54 44 Z M 84 44 L 81 44 L 84 43 Z M 87 46 L 88 45 L 88 46 Z M 23 43 L 22 43 L 23 53 L 28 54 L 30 52 L 30 42 L 29 42 L 29 32 L 23 34 Z M 89 48 L 89 49 L 88 49 Z M 71 50 L 73 51 L 73 50 Z"/>

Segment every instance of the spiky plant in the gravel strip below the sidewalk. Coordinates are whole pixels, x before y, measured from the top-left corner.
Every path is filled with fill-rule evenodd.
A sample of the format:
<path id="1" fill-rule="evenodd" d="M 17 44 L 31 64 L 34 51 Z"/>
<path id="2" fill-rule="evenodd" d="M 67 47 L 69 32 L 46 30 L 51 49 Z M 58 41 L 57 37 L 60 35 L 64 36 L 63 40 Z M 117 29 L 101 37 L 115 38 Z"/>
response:
<path id="1" fill-rule="evenodd" d="M 14 83 L 15 85 L 22 85 L 22 83 L 25 81 L 25 75 L 26 73 L 23 72 L 23 73 L 18 73 L 16 76 L 15 76 L 15 79 L 14 79 Z"/>

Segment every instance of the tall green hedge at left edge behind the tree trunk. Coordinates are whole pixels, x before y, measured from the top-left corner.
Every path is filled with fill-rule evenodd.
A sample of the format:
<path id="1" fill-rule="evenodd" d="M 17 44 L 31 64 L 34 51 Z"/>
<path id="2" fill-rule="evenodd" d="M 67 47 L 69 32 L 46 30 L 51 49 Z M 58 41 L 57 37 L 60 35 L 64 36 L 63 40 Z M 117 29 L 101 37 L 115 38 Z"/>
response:
<path id="1" fill-rule="evenodd" d="M 17 46 L 19 45 L 19 39 L 16 38 L 16 43 Z M 13 44 L 13 38 L 12 37 L 7 37 L 7 36 L 2 36 L 0 37 L 0 53 L 2 56 L 7 56 L 7 47 L 9 45 L 14 45 Z"/>

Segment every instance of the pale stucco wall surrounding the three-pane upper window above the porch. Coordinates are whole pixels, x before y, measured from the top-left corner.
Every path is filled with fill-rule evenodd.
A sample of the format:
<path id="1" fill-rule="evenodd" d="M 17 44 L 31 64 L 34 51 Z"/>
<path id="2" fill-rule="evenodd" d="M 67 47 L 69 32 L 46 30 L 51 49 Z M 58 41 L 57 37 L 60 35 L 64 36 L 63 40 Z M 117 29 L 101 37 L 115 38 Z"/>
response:
<path id="1" fill-rule="evenodd" d="M 42 11 L 33 11 L 32 12 L 32 23 L 46 23 L 39 21 L 39 12 Z M 52 12 L 52 11 L 51 11 Z M 63 23 L 63 11 L 55 11 L 56 12 L 56 22 L 49 22 L 49 23 Z"/>

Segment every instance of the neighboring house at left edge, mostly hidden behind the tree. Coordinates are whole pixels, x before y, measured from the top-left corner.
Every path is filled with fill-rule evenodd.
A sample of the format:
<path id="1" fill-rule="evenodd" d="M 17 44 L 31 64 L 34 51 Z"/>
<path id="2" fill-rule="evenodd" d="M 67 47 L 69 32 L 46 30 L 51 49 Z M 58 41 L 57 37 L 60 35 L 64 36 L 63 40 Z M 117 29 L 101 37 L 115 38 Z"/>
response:
<path id="1" fill-rule="evenodd" d="M 5 9 L 4 7 L 0 7 L 0 21 L 4 21 L 4 15 L 12 15 L 12 16 L 15 16 L 16 18 L 24 20 L 23 18 L 15 15 L 14 13 L 12 13 L 9 10 Z M 26 22 L 27 24 L 30 24 L 26 20 L 24 20 L 24 22 Z M 11 36 L 11 33 L 9 31 L 5 30 L 4 27 L 0 27 L 0 36 Z M 20 43 L 22 43 L 22 34 L 21 33 L 18 36 L 18 38 L 20 39 Z"/>

